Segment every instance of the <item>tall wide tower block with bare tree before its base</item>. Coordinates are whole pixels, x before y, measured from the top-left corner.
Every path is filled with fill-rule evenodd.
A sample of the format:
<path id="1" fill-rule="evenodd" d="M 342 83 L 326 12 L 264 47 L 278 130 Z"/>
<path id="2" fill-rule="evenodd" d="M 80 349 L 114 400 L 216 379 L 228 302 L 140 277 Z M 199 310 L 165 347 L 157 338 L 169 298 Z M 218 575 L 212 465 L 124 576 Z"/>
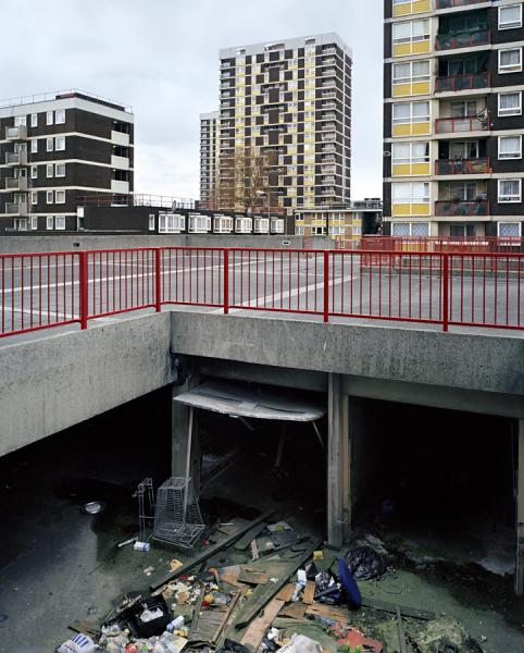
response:
<path id="1" fill-rule="evenodd" d="M 340 37 L 226 48 L 220 60 L 220 207 L 291 214 L 349 201 L 351 51 Z"/>

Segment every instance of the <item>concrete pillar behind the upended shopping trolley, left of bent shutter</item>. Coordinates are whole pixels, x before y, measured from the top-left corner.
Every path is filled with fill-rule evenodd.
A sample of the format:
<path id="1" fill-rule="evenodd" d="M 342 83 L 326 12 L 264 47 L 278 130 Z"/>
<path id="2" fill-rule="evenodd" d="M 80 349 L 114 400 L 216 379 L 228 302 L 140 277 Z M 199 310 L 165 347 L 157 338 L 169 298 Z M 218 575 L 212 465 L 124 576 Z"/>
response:
<path id="1" fill-rule="evenodd" d="M 171 391 L 171 473 L 183 477 L 186 473 L 187 435 L 189 429 L 189 408 L 175 402 L 174 398 L 198 384 L 195 377 L 189 377 L 183 385 L 173 385 Z M 200 485 L 200 438 L 198 414 L 195 414 L 191 446 L 191 477 L 198 492 Z"/>

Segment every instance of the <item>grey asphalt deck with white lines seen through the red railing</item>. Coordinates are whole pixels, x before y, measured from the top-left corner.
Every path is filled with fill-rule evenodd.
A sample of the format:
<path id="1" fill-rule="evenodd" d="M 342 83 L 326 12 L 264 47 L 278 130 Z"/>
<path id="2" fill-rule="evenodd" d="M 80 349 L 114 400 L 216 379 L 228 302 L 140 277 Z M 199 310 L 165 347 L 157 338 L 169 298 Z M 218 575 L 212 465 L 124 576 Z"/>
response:
<path id="1" fill-rule="evenodd" d="M 154 310 L 154 252 L 123 250 L 91 255 L 88 264 L 90 323 L 133 317 Z M 77 255 L 2 259 L 0 268 L 0 333 L 17 332 L 79 318 Z M 167 258 L 169 257 L 169 258 Z M 328 266 L 327 301 L 330 321 L 358 321 L 396 326 L 426 325 L 441 330 L 442 284 L 437 259 L 407 259 L 402 267 L 387 258 L 334 256 Z M 161 293 L 169 309 L 223 312 L 222 251 L 173 250 L 162 259 Z M 449 321 L 460 331 L 494 333 L 488 324 L 524 328 L 524 272 L 502 260 L 498 270 L 452 271 Z M 324 310 L 323 254 L 286 250 L 232 252 L 228 275 L 229 312 L 289 319 L 322 319 Z M 523 291 L 523 292 L 521 292 Z M 130 312 L 121 312 L 130 310 Z M 263 311 L 263 312 L 253 312 Z M 115 315 L 116 313 L 116 315 Z M 47 330 L 55 334 L 78 329 Z M 499 330 L 498 330 L 499 331 Z M 503 330 L 522 336 L 519 330 Z M 38 332 L 38 337 L 42 333 Z M 0 346 L 32 334 L 11 335 Z M 16 338 L 16 340 L 14 340 Z"/>

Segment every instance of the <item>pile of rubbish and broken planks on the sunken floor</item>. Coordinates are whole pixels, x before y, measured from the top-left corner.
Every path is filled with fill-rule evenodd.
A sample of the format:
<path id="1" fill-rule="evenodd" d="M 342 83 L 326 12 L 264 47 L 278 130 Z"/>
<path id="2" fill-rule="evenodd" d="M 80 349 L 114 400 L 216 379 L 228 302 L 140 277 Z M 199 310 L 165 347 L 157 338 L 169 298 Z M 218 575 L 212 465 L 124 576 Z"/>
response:
<path id="1" fill-rule="evenodd" d="M 171 559 L 148 591 L 126 593 L 97 631 L 57 653 L 482 653 L 463 628 L 361 592 L 388 574 L 378 540 L 340 555 L 271 517 L 219 525 L 191 557 Z"/>

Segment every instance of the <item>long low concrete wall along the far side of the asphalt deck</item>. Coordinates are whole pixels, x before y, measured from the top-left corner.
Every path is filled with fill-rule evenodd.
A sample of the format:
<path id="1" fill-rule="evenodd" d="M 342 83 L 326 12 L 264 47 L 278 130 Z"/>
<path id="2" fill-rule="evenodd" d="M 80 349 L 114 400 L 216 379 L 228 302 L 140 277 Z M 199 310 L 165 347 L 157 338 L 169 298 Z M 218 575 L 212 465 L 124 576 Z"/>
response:
<path id="1" fill-rule="evenodd" d="M 282 247 L 302 249 L 303 236 L 220 236 L 220 235 L 92 235 L 78 232 L 62 236 L 0 236 L 0 254 L 21 251 L 71 251 L 75 249 L 112 249 L 129 247 Z M 284 245 L 288 243 L 288 245 Z M 308 238 L 308 248 L 332 249 L 335 242 L 328 238 Z"/>

